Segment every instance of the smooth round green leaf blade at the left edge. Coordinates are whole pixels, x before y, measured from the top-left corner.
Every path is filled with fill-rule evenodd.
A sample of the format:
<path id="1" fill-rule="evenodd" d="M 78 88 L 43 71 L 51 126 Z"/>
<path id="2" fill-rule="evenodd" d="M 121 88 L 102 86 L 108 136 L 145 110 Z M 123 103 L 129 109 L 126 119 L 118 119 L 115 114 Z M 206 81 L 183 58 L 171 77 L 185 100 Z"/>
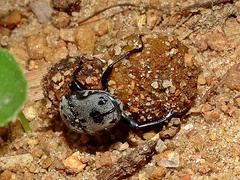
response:
<path id="1" fill-rule="evenodd" d="M 27 81 L 13 56 L 0 48 L 0 126 L 15 120 L 27 99 Z"/>

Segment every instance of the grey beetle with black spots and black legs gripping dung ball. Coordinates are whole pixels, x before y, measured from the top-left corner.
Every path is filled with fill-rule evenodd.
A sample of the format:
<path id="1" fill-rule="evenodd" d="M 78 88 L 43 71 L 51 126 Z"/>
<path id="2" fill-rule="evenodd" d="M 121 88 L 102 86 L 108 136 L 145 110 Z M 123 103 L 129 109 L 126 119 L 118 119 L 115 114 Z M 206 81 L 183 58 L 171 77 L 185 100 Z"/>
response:
<path id="1" fill-rule="evenodd" d="M 77 74 L 80 72 L 82 66 L 82 62 L 80 62 L 79 67 L 73 73 L 73 80 L 69 83 L 72 94 L 64 95 L 59 105 L 61 118 L 70 129 L 78 133 L 96 135 L 102 131 L 111 129 L 120 120 L 133 129 L 141 129 L 161 124 L 172 117 L 181 117 L 189 110 L 189 108 L 186 108 L 182 112 L 173 112 L 171 109 L 166 116 L 159 120 L 138 124 L 124 112 L 122 101 L 108 92 L 108 79 L 114 65 L 131 54 L 142 52 L 143 42 L 141 36 L 139 38 L 141 40 L 140 48 L 126 52 L 112 62 L 104 71 L 101 78 L 101 90 L 87 89 L 77 80 Z"/>

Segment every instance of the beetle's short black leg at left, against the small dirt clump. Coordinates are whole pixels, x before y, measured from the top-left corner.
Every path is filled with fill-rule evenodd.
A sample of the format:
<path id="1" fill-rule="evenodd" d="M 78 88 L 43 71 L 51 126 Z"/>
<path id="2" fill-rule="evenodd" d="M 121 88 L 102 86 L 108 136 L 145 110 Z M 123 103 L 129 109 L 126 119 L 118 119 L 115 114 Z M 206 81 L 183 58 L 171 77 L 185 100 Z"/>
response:
<path id="1" fill-rule="evenodd" d="M 77 80 L 77 74 L 80 72 L 81 69 L 82 69 L 82 61 L 79 62 L 78 68 L 73 73 L 73 80 L 68 85 L 72 92 L 87 89 L 80 81 Z"/>

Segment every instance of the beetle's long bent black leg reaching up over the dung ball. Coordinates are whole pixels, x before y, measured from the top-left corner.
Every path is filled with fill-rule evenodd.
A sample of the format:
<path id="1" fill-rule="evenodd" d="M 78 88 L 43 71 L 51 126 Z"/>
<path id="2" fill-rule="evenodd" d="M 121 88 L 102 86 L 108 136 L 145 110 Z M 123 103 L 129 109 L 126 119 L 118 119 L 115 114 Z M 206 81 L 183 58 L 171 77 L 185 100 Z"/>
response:
<path id="1" fill-rule="evenodd" d="M 120 62 L 121 60 L 123 60 L 124 58 L 126 58 L 127 56 L 133 54 L 133 53 L 138 53 L 138 52 L 142 52 L 143 50 L 143 42 L 142 42 L 142 38 L 139 35 L 139 39 L 141 40 L 141 47 L 140 48 L 136 48 L 136 49 L 132 49 L 131 51 L 126 52 L 125 54 L 123 54 L 122 56 L 120 56 L 118 59 L 116 59 L 115 61 L 113 61 L 108 67 L 107 69 L 104 71 L 103 75 L 102 75 L 102 89 L 107 91 L 108 90 L 108 78 L 112 73 L 113 70 L 113 66 Z"/>

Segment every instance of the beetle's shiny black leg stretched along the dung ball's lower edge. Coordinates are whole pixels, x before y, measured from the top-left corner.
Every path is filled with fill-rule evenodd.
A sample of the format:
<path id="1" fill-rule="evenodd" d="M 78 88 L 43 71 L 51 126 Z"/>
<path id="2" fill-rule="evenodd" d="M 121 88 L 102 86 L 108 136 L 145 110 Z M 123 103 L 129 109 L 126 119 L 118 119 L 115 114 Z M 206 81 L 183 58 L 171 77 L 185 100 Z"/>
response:
<path id="1" fill-rule="evenodd" d="M 158 125 L 161 124 L 164 121 L 167 121 L 173 117 L 181 117 L 184 114 L 186 114 L 188 112 L 190 108 L 186 108 L 185 110 L 183 110 L 182 112 L 173 112 L 172 110 L 169 111 L 169 113 L 164 116 L 163 118 L 157 120 L 157 121 L 152 121 L 152 122 L 148 122 L 145 124 L 138 124 L 137 122 L 135 122 L 132 118 L 130 118 L 128 115 L 126 115 L 124 112 L 122 113 L 122 118 L 125 120 L 125 122 L 134 129 L 141 129 L 141 128 L 145 128 L 145 127 L 149 127 L 149 126 L 154 126 L 154 125 Z"/>

